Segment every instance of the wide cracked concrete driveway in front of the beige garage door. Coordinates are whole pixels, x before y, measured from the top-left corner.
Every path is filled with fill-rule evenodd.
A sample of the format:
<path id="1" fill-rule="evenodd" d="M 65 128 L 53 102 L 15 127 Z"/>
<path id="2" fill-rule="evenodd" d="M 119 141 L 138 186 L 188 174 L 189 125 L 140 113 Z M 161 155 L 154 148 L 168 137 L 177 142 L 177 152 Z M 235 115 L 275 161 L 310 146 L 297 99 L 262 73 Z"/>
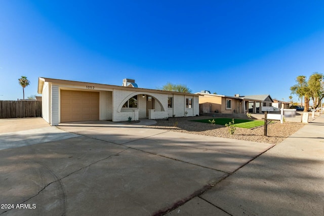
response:
<path id="1" fill-rule="evenodd" d="M 196 196 L 272 147 L 141 124 L 51 127 L 35 119 L 44 126 L 0 120 L 0 128 L 20 128 L 0 131 L 0 203 L 7 204 L 0 215 L 154 215 L 183 203 L 228 215 Z"/>

